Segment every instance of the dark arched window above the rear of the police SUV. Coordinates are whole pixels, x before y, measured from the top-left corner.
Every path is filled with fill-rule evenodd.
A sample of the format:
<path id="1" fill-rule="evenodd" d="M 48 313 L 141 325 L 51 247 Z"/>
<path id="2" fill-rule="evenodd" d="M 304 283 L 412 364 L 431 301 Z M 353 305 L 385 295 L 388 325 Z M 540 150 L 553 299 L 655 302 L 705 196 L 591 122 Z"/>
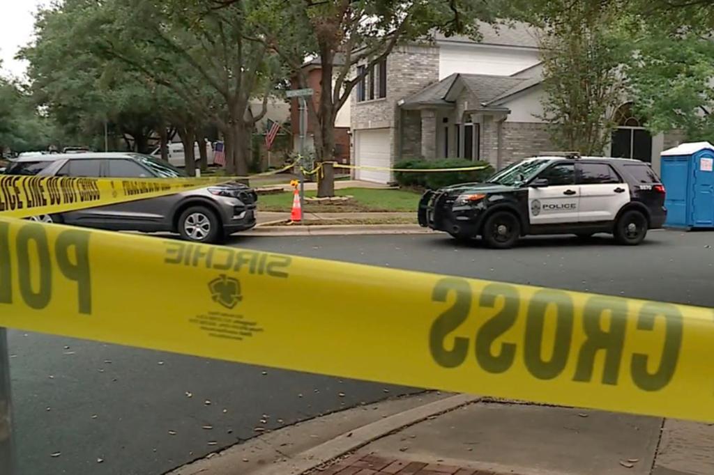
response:
<path id="1" fill-rule="evenodd" d="M 645 129 L 645 118 L 634 113 L 633 103 L 625 103 L 615 111 L 615 122 L 618 128 L 613 132 L 610 155 L 652 161 L 652 136 Z"/>

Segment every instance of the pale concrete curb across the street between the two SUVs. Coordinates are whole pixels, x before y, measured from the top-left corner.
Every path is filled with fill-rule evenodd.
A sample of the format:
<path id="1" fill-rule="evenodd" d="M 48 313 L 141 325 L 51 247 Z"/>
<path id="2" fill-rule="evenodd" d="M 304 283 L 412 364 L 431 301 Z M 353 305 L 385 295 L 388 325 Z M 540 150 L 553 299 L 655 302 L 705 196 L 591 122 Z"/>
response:
<path id="1" fill-rule="evenodd" d="M 279 223 L 280 221 L 278 221 Z M 268 224 L 268 223 L 265 223 Z M 383 234 L 431 234 L 432 230 L 419 225 L 261 225 L 241 233 L 241 236 L 341 236 Z"/>

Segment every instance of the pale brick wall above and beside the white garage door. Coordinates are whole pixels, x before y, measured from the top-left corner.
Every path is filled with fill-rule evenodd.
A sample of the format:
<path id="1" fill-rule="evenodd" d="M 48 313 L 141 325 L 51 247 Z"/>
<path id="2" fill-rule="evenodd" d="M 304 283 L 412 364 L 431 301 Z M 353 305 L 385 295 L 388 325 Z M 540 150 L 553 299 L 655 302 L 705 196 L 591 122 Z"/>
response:
<path id="1" fill-rule="evenodd" d="M 399 149 L 406 143 L 400 142 L 402 139 L 397 136 L 395 131 L 398 101 L 421 91 L 431 83 L 435 83 L 438 81 L 438 76 L 439 51 L 437 47 L 410 45 L 396 48 L 387 58 L 386 98 L 358 102 L 357 94 L 352 95 L 353 131 L 366 128 L 389 128 L 391 161 L 393 163 Z M 419 127 L 421 129 L 421 123 Z M 405 136 L 406 134 L 401 135 Z"/>

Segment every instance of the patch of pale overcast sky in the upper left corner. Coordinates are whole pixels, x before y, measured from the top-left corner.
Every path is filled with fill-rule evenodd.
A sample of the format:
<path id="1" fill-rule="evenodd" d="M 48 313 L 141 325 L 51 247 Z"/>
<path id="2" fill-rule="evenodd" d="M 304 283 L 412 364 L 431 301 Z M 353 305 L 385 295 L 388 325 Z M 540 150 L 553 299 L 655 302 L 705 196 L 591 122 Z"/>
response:
<path id="1" fill-rule="evenodd" d="M 2 76 L 24 76 L 27 67 L 24 61 L 14 56 L 19 48 L 32 39 L 34 12 L 39 6 L 47 6 L 49 0 L 0 0 L 0 58 Z"/>

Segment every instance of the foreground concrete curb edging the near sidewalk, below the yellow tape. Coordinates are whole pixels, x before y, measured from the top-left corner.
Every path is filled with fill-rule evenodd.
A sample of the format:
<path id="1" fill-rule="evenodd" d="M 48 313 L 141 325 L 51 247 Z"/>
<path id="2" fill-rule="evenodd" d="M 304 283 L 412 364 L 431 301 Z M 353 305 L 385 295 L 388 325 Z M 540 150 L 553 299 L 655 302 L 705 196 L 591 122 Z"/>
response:
<path id="1" fill-rule="evenodd" d="M 291 460 L 253 471 L 251 475 L 301 475 L 329 461 L 338 459 L 351 451 L 360 449 L 372 441 L 381 439 L 383 436 L 480 400 L 481 397 L 459 394 L 458 396 L 425 404 L 415 409 L 409 409 L 400 414 L 386 417 L 381 421 L 367 424 L 347 434 L 337 436 L 331 441 L 303 451 Z"/>

